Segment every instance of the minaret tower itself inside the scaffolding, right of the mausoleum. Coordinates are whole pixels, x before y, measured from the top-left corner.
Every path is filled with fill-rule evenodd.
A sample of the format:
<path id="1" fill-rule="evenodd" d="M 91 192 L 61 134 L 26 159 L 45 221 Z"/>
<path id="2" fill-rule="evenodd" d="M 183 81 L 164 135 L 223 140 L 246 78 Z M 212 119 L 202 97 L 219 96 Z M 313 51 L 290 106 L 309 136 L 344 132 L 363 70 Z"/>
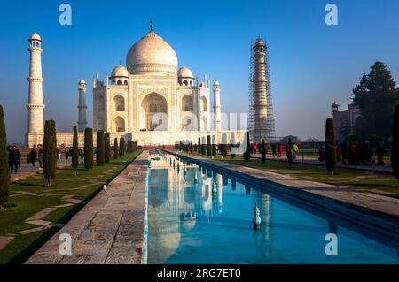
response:
<path id="1" fill-rule="evenodd" d="M 267 137 L 267 79 L 266 79 L 266 44 L 258 38 L 253 47 L 254 74 L 252 78 L 254 95 L 254 142 Z"/>

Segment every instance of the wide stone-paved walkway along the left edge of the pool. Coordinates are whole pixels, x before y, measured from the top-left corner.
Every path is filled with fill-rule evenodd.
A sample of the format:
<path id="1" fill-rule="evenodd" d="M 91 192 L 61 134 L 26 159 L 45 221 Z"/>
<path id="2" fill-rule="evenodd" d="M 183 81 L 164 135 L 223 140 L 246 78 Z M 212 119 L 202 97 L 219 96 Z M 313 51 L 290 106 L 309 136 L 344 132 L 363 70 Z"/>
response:
<path id="1" fill-rule="evenodd" d="M 148 151 L 137 156 L 27 264 L 141 263 L 148 156 Z M 72 255 L 59 254 L 62 233 L 72 238 Z"/>

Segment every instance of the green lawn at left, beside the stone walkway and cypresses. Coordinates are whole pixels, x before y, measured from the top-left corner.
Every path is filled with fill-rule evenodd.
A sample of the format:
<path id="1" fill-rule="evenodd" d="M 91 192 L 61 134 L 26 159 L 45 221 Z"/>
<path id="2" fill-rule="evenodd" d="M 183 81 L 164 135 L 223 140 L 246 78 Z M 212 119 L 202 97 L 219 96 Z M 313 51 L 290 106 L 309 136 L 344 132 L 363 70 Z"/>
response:
<path id="1" fill-rule="evenodd" d="M 111 160 L 110 164 L 104 166 L 95 165 L 90 171 L 80 167 L 76 177 L 74 170 L 71 167 L 66 167 L 57 171 L 52 187 L 45 186 L 41 174 L 12 182 L 10 185 L 11 197 L 7 205 L 9 207 L 0 210 L 0 235 L 12 234 L 15 238 L 0 251 L 0 263 L 24 263 L 35 250 L 59 230 L 57 227 L 51 227 L 27 235 L 16 234 L 16 232 L 38 227 L 38 225 L 27 224 L 25 221 L 28 217 L 32 217 L 45 208 L 71 203 L 62 199 L 66 195 L 76 200 L 89 201 L 98 193 L 103 184 L 110 182 L 139 153 L 137 151 L 127 154 L 118 160 Z M 38 195 L 19 194 L 19 192 Z M 82 204 L 74 203 L 68 207 L 58 208 L 43 217 L 43 220 L 66 224 L 77 211 L 82 209 L 82 206 Z"/>

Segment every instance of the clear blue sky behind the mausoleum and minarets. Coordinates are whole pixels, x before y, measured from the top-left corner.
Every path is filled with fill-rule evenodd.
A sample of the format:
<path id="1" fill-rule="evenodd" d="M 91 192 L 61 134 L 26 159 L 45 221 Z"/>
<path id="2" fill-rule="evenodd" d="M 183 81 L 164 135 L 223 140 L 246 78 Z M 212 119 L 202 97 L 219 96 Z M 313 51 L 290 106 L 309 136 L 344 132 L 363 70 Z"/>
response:
<path id="1" fill-rule="evenodd" d="M 59 4 L 73 25 L 59 25 Z M 339 25 L 325 25 L 325 4 L 339 8 Z M 249 46 L 266 38 L 279 136 L 322 137 L 334 100 L 342 104 L 363 72 L 383 61 L 399 79 L 399 1 L 2 1 L 0 103 L 8 139 L 27 132 L 27 38 L 43 38 L 45 118 L 59 131 L 77 121 L 77 82 L 110 73 L 130 46 L 154 29 L 175 50 L 179 65 L 221 81 L 224 112 L 246 112 Z"/>

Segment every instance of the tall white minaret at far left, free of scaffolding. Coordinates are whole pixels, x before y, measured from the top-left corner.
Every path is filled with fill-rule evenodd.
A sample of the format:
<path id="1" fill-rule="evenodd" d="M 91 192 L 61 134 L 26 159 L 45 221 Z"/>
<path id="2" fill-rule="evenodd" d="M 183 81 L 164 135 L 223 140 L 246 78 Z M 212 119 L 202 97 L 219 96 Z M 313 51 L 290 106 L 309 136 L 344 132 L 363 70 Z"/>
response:
<path id="1" fill-rule="evenodd" d="M 27 133 L 44 133 L 44 104 L 42 78 L 42 38 L 34 33 L 30 42 L 29 101 L 27 103 Z"/>

